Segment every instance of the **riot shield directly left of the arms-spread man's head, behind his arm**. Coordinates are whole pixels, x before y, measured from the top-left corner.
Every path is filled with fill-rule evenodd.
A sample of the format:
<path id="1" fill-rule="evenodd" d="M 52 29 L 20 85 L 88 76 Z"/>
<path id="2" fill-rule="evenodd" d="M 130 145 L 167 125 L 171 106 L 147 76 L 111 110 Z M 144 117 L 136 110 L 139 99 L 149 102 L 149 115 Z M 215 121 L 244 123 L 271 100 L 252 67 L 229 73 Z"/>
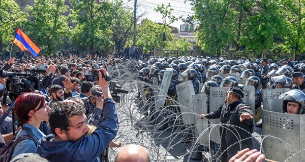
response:
<path id="1" fill-rule="evenodd" d="M 225 103 L 228 87 L 210 87 L 209 112 L 214 112 Z M 209 119 L 209 124 L 219 124 L 220 119 Z M 220 143 L 219 127 L 210 128 L 210 140 Z"/>

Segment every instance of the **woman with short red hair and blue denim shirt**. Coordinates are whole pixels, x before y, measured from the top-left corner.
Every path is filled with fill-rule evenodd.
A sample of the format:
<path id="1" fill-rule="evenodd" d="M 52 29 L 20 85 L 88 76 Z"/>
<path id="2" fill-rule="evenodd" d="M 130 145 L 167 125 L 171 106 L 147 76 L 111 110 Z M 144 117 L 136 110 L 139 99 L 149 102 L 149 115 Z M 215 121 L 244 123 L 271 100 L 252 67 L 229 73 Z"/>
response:
<path id="1" fill-rule="evenodd" d="M 14 148 L 12 158 L 22 153 L 36 153 L 36 143 L 45 135 L 39 130 L 42 121 L 48 121 L 50 107 L 46 97 L 36 92 L 23 93 L 15 101 L 15 111 L 22 130 L 17 138 L 22 135 L 29 135 L 35 140 L 26 139 L 21 141 Z"/>

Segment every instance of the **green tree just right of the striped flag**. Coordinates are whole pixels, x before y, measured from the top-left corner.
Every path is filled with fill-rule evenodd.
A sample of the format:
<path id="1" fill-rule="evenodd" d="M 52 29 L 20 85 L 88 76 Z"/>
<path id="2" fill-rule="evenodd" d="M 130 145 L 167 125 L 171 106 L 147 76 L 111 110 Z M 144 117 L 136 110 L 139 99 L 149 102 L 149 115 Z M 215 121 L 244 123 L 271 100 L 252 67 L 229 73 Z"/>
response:
<path id="1" fill-rule="evenodd" d="M 65 0 L 35 0 L 34 6 L 27 6 L 26 10 L 29 17 L 24 30 L 46 55 L 55 53 L 69 35 Z"/>

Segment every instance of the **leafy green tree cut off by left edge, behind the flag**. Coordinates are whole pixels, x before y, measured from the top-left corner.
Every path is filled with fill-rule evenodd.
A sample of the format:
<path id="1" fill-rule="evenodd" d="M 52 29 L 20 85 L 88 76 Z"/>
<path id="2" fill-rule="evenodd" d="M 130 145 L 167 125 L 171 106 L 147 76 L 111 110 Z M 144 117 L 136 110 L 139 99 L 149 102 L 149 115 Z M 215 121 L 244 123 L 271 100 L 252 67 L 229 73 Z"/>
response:
<path id="1" fill-rule="evenodd" d="M 10 49 L 14 32 L 24 21 L 26 13 L 20 10 L 14 0 L 0 0 L 0 54 Z"/>

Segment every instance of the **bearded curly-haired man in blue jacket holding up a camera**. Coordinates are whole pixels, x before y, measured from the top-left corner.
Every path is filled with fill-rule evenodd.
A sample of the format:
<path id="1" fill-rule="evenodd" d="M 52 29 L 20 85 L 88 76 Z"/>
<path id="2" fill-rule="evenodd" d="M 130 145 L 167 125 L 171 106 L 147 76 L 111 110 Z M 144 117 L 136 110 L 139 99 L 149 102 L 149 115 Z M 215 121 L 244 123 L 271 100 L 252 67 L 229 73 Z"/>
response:
<path id="1" fill-rule="evenodd" d="M 107 71 L 102 69 L 103 75 Z M 97 107 L 95 112 L 103 112 L 98 128 L 92 135 L 86 125 L 85 108 L 79 104 L 59 103 L 49 113 L 49 125 L 54 135 L 40 140 L 37 152 L 50 161 L 98 161 L 110 141 L 116 136 L 118 119 L 108 81 L 99 73 L 99 85 L 103 89 L 104 100 L 100 98 L 97 105 L 103 103 L 103 109 Z"/>

